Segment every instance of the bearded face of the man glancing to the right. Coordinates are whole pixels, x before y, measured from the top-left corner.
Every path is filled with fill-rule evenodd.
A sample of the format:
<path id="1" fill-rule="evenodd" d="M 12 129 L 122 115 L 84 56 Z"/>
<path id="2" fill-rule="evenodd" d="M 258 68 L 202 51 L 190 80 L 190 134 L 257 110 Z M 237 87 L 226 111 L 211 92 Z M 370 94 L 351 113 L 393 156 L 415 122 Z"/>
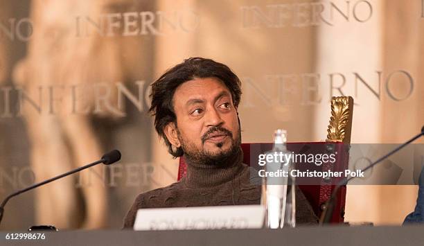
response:
<path id="1" fill-rule="evenodd" d="M 220 80 L 184 82 L 175 90 L 173 105 L 178 141 L 187 157 L 219 160 L 240 147 L 237 110 L 229 89 Z"/>

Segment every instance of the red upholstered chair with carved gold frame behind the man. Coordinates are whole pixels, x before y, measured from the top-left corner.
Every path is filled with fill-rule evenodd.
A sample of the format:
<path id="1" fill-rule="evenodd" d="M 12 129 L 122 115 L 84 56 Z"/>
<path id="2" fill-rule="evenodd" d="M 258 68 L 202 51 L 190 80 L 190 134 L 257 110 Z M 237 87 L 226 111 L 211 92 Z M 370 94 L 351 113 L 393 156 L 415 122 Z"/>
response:
<path id="1" fill-rule="evenodd" d="M 303 152 L 303 148 L 312 148 L 312 152 L 324 153 L 324 152 L 337 152 L 337 159 L 334 165 L 322 164 L 321 166 L 315 166 L 316 170 L 332 170 L 332 171 L 344 171 L 348 168 L 348 149 L 351 141 L 351 125 L 352 125 L 352 113 L 353 113 L 353 98 L 350 96 L 333 97 L 331 100 L 331 117 L 330 125 L 328 125 L 328 135 L 326 142 L 317 143 L 288 143 L 288 150 L 294 151 L 295 153 Z M 272 132 L 270 132 L 270 135 Z M 260 154 L 257 152 L 257 148 L 251 148 L 252 143 L 242 143 L 243 150 L 243 163 L 250 165 L 251 159 Z M 272 149 L 272 143 L 261 144 L 265 150 Z M 252 153 L 251 151 L 255 151 Z M 251 158 L 254 157 L 254 158 Z M 302 169 L 301 165 L 297 168 Z M 308 166 L 310 169 L 310 166 Z M 186 175 L 186 163 L 184 158 L 179 159 L 179 170 L 178 180 Z M 302 180 L 303 179 L 303 180 Z M 312 182 L 313 185 L 307 184 Z M 315 180 L 314 180 L 315 179 Z M 334 180 L 333 180 L 334 181 Z M 318 218 L 321 216 L 321 212 L 324 209 L 325 202 L 330 198 L 333 192 L 336 182 L 332 182 L 328 179 L 322 178 L 297 178 L 299 188 L 306 196 L 312 209 Z M 317 185 L 320 184 L 320 185 Z M 333 210 L 333 216 L 331 219 L 332 223 L 344 222 L 344 205 L 346 201 L 346 186 L 339 189 L 337 194 L 337 204 Z"/>

